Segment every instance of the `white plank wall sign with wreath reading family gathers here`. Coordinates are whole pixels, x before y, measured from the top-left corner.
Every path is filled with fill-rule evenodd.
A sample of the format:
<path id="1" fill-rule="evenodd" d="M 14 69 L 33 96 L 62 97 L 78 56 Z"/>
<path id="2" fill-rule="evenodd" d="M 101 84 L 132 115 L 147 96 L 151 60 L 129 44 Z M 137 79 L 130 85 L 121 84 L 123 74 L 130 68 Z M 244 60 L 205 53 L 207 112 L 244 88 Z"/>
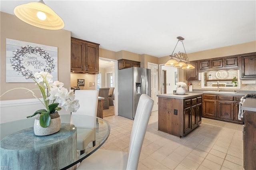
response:
<path id="1" fill-rule="evenodd" d="M 35 72 L 47 71 L 58 79 L 58 48 L 6 39 L 6 82 L 34 82 Z"/>

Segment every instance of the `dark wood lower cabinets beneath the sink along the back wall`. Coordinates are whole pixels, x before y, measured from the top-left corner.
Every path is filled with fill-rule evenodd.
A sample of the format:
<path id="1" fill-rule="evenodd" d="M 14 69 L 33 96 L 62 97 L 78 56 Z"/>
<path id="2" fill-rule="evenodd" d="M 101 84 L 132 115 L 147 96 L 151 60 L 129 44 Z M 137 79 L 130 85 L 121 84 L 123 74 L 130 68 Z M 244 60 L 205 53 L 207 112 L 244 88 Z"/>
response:
<path id="1" fill-rule="evenodd" d="M 241 97 L 204 94 L 202 116 L 242 124 L 242 120 L 238 120 L 239 101 Z"/>

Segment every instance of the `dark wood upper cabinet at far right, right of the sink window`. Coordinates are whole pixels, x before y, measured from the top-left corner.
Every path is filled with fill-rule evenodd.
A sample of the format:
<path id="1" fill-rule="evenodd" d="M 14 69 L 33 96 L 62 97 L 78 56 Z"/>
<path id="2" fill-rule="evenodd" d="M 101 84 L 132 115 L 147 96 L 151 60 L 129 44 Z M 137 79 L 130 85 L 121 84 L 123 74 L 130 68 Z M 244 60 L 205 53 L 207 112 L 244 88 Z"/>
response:
<path id="1" fill-rule="evenodd" d="M 256 53 L 241 56 L 240 79 L 256 78 Z"/>

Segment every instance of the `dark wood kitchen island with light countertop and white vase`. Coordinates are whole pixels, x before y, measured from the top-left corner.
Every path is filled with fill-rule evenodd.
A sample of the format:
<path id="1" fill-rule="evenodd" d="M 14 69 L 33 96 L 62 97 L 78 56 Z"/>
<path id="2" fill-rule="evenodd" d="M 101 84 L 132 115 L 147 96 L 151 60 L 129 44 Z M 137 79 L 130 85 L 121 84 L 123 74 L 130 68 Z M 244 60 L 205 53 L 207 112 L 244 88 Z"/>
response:
<path id="1" fill-rule="evenodd" d="M 158 96 L 158 130 L 180 138 L 202 122 L 202 93 Z"/>

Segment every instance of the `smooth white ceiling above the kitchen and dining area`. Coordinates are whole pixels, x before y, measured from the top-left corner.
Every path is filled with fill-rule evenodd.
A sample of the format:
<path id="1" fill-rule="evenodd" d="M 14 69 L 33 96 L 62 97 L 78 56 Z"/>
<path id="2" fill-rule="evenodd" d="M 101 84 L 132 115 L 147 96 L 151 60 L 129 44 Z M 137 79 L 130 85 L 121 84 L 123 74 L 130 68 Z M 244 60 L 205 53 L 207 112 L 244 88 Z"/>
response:
<path id="1" fill-rule="evenodd" d="M 28 2 L 1 0 L 0 10 L 14 14 Z M 256 1 L 82 1 L 44 0 L 71 36 L 155 57 L 170 55 L 185 38 L 186 53 L 256 41 Z M 177 51 L 183 52 L 178 44 Z M 104 56 L 100 56 L 104 57 Z"/>

